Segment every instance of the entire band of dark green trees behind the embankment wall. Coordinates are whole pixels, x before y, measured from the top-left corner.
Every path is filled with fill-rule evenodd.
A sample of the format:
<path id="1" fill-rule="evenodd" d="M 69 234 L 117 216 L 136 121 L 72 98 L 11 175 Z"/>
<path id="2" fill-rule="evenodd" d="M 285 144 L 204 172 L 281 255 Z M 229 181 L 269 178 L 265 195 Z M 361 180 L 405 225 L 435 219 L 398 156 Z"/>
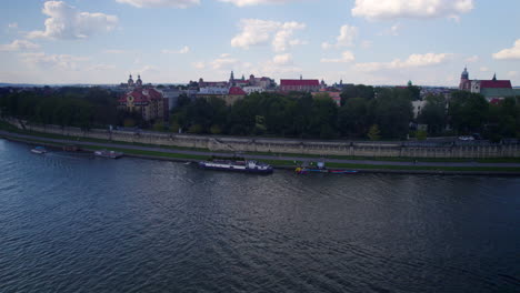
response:
<path id="1" fill-rule="evenodd" d="M 412 101 L 418 88 L 347 85 L 338 107 L 328 94 L 253 93 L 233 105 L 213 99 L 180 97 L 168 124 L 154 129 L 190 133 L 276 135 L 320 139 L 404 139 L 410 125 L 427 124 L 429 135 L 482 133 L 498 140 L 520 137 L 520 103 L 508 98 L 490 104 L 477 93 L 454 91 L 450 99 L 429 95 L 416 120 Z M 83 129 L 150 127 L 139 113 L 118 110 L 117 93 L 99 88 L 36 89 L 0 95 L 2 115 L 36 123 Z M 412 122 L 412 123 L 411 123 Z M 414 122 L 414 123 L 413 123 Z"/>

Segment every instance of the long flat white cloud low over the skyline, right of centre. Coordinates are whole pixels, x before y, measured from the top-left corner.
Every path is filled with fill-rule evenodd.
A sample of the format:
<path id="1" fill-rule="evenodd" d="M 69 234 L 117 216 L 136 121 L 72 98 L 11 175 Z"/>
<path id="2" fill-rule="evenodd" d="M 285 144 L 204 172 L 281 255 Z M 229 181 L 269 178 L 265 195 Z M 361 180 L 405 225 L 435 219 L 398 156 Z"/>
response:
<path id="1" fill-rule="evenodd" d="M 407 60 L 402 61 L 396 59 L 391 62 L 369 62 L 358 63 L 356 69 L 366 72 L 379 71 L 384 69 L 404 69 L 404 68 L 420 68 L 437 65 L 446 62 L 452 54 L 449 53 L 426 53 L 426 54 L 411 54 Z"/>

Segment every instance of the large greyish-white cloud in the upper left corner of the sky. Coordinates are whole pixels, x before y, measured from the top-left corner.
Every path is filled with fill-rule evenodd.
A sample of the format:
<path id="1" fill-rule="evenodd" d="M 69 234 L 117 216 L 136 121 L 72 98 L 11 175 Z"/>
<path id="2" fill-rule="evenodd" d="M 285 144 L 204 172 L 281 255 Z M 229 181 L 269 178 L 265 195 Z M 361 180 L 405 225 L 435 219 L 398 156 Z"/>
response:
<path id="1" fill-rule="evenodd" d="M 44 31 L 31 31 L 29 38 L 84 39 L 99 32 L 111 31 L 118 24 L 118 17 L 103 13 L 81 12 L 62 1 L 47 1 L 43 4 Z"/>

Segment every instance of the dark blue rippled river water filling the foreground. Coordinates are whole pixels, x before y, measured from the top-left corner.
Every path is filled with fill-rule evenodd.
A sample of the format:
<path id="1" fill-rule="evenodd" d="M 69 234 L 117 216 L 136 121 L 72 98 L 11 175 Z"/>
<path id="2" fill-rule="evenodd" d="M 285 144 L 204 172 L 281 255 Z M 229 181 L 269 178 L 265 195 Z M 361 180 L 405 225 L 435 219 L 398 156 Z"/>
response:
<path id="1" fill-rule="evenodd" d="M 0 140 L 0 292 L 519 292 L 520 179 L 251 175 Z"/>

